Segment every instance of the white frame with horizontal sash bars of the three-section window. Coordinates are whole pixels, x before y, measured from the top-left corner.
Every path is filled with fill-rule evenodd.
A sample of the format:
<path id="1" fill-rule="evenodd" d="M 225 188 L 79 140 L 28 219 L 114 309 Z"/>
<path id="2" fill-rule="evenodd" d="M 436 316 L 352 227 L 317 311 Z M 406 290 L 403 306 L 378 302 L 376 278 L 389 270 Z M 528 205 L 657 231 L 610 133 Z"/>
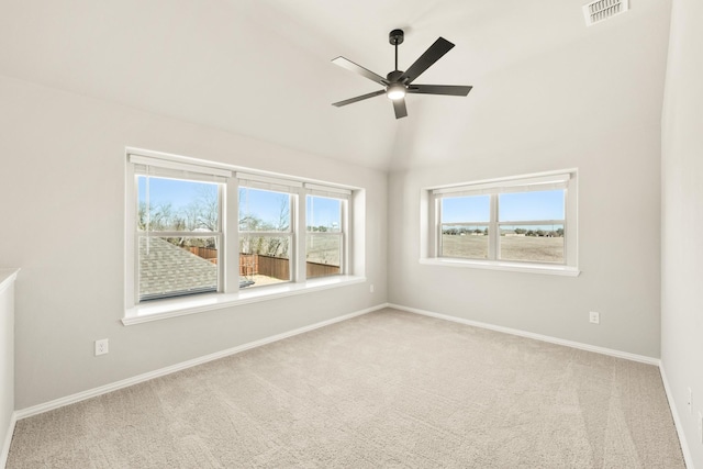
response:
<path id="1" fill-rule="evenodd" d="M 142 166 L 148 165 L 154 168 L 149 172 L 154 177 L 168 177 L 171 179 L 190 180 L 189 174 L 197 175 L 192 180 L 215 178 L 217 182 L 217 200 L 220 204 L 219 231 L 217 232 L 143 232 L 138 231 L 138 182 L 137 176 L 143 175 Z M 123 324 L 136 324 L 153 321 L 161 317 L 190 314 L 200 311 L 208 311 L 219 308 L 227 308 L 237 304 L 245 304 L 253 301 L 266 301 L 272 298 L 280 298 L 288 294 L 299 294 L 306 291 L 315 291 L 325 288 L 336 288 L 345 284 L 365 281 L 362 271 L 354 272 L 348 259 L 352 252 L 352 232 L 357 232 L 353 227 L 349 217 L 350 210 L 347 210 L 343 217 L 342 235 L 343 253 L 341 259 L 339 278 L 314 277 L 306 279 L 305 276 L 305 200 L 309 193 L 324 190 L 326 193 L 336 194 L 337 198 L 350 203 L 356 192 L 362 191 L 359 188 L 349 188 L 327 182 L 308 182 L 301 178 L 287 177 L 264 171 L 254 171 L 249 168 L 246 172 L 237 171 L 238 168 L 204 161 L 200 159 L 161 154 L 150 150 L 126 148 L 125 167 L 125 315 Z M 150 170 L 149 170 L 150 171 Z M 163 176 L 168 175 L 168 176 Z M 180 177 L 179 177 L 180 176 Z M 239 188 L 242 181 L 247 180 L 247 186 L 256 189 L 284 187 L 284 192 L 290 196 L 290 226 L 287 232 L 252 232 L 256 236 L 290 236 L 290 281 L 274 283 L 270 286 L 259 286 L 256 291 L 239 288 Z M 210 181 L 210 180 L 209 180 Z M 249 185 L 250 182 L 250 185 Z M 362 199 L 361 199 L 362 200 Z M 302 201 L 302 202 L 301 202 Z M 344 205 L 344 204 L 343 204 Z M 360 221 L 362 224 L 362 221 Z M 248 232 L 246 232 L 248 233 Z M 215 237 L 219 239 L 217 249 L 217 290 L 216 292 L 203 292 L 185 294 L 182 297 L 171 297 L 163 299 L 148 299 L 140 301 L 138 286 L 138 243 L 144 236 L 157 237 L 161 234 L 177 234 L 178 236 Z M 358 269 L 360 267 L 360 269 Z M 362 266 L 357 266 L 362 270 Z M 336 276 L 335 276 L 336 277 Z"/>

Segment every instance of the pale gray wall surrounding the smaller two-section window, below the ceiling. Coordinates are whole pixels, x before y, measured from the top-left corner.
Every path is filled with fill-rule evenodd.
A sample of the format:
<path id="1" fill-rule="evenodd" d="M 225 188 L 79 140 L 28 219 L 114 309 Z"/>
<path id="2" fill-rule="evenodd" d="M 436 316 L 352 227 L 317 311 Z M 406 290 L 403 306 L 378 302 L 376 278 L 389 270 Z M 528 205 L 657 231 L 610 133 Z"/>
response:
<path id="1" fill-rule="evenodd" d="M 579 277 L 419 264 L 421 188 L 573 167 Z M 659 357 L 658 122 L 578 147 L 555 142 L 397 172 L 389 191 L 391 303 Z M 589 311 L 601 313 L 600 325 L 589 323 Z"/>

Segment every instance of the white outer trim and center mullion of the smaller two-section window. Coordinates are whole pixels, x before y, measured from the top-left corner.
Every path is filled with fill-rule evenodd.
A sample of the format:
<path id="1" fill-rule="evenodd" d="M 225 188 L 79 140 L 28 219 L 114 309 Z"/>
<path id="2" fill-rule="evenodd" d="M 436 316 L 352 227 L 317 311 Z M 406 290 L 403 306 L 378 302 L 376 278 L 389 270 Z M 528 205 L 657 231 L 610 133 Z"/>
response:
<path id="1" fill-rule="evenodd" d="M 581 272 L 578 267 L 578 169 L 573 168 L 568 170 L 547 171 L 468 183 L 465 182 L 440 187 L 423 188 L 420 196 L 420 264 L 457 268 L 578 277 Z M 548 263 L 500 260 L 496 259 L 498 243 L 489 243 L 489 255 L 495 260 L 464 259 L 438 256 L 438 230 L 440 220 L 437 214 L 435 202 L 436 194 L 495 194 L 518 191 L 521 190 L 521 188 L 525 187 L 528 187 L 527 190 L 546 190 L 547 188 L 553 189 L 559 187 L 566 189 L 568 197 L 566 198 L 567 203 L 565 206 L 565 228 L 566 224 L 568 224 L 569 231 L 567 232 L 567 237 L 565 238 L 565 264 L 554 265 Z M 495 206 L 494 201 L 495 198 L 491 198 L 491 222 L 488 223 L 490 232 L 498 233 L 498 226 L 501 224 L 520 224 L 517 222 L 499 223 L 496 216 L 498 208 Z M 525 222 L 525 224 L 534 224 L 534 222 Z"/>

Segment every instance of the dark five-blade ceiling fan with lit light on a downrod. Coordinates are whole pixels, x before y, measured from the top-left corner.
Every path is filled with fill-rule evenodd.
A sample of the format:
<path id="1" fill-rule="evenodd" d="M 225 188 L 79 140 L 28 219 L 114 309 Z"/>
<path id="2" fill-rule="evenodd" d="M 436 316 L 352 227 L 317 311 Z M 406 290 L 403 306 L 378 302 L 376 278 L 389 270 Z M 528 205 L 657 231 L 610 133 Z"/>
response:
<path id="1" fill-rule="evenodd" d="M 405 108 L 405 94 L 446 94 L 446 96 L 467 96 L 471 91 L 472 87 L 454 86 L 454 85 L 413 85 L 415 78 L 420 77 L 427 68 L 429 68 L 435 62 L 439 60 L 443 55 L 451 51 L 454 44 L 444 37 L 439 37 L 433 45 L 429 46 L 423 55 L 406 71 L 398 69 L 398 46 L 403 43 L 404 33 L 403 30 L 393 30 L 389 33 L 388 40 L 392 46 L 395 47 L 395 69 L 389 72 L 386 78 L 380 75 L 376 75 L 371 70 L 368 70 L 360 65 L 353 63 L 344 57 L 337 57 L 332 60 L 333 64 L 344 67 L 347 70 L 359 74 L 362 77 L 368 78 L 383 87 L 382 90 L 373 91 L 367 94 L 361 94 L 356 98 L 350 98 L 344 101 L 332 103 L 341 108 L 343 105 L 352 104 L 357 101 L 373 98 L 377 96 L 386 94 L 391 101 L 393 101 L 393 110 L 395 111 L 395 119 L 405 118 L 408 115 L 408 109 Z"/>

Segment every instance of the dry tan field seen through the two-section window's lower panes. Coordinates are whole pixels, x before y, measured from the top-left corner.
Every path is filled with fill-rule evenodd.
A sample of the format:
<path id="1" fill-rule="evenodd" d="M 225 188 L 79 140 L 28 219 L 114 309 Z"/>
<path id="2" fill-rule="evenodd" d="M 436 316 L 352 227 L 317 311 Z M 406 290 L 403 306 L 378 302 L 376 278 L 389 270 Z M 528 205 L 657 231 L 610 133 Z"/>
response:
<path id="1" fill-rule="evenodd" d="M 563 263 L 562 237 L 501 236 L 502 260 Z M 443 256 L 488 258 L 488 236 L 443 235 Z"/>

